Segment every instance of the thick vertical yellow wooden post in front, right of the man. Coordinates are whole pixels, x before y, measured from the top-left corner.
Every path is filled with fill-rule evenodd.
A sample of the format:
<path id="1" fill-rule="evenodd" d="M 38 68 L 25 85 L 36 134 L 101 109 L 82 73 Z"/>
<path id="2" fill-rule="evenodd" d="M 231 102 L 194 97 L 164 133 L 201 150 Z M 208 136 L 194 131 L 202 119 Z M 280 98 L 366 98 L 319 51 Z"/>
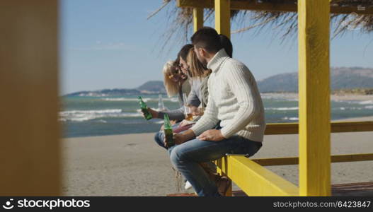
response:
<path id="1" fill-rule="evenodd" d="M 298 1 L 301 196 L 331 195 L 329 13 L 329 1 Z"/>

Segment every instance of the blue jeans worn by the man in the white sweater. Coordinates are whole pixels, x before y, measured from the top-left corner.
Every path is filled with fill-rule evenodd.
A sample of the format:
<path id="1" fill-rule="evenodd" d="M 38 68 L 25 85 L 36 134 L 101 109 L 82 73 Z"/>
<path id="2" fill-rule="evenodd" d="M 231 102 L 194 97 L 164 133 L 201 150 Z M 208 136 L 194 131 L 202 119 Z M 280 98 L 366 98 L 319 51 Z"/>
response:
<path id="1" fill-rule="evenodd" d="M 168 148 L 173 167 L 178 170 L 198 196 L 220 196 L 215 182 L 199 163 L 222 158 L 226 153 L 254 155 L 261 147 L 260 142 L 250 141 L 241 136 L 231 136 L 222 141 L 202 141 L 193 139 Z"/>

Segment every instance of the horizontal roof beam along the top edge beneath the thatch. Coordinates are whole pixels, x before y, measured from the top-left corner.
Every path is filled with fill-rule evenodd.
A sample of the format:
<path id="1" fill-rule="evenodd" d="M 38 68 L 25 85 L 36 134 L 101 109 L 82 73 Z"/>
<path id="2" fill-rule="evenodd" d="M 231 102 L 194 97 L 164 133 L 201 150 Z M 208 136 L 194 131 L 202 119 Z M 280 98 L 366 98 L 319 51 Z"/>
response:
<path id="1" fill-rule="evenodd" d="M 179 7 L 192 7 L 192 8 L 214 8 L 214 1 L 211 0 L 178 0 Z M 295 4 L 275 4 L 275 3 L 258 3 L 258 1 L 239 1 L 231 0 L 232 10 L 250 10 L 250 11 L 280 11 L 280 12 L 297 12 L 298 8 Z M 373 7 L 361 8 L 357 6 L 335 6 L 331 5 L 331 13 L 340 14 L 373 14 Z"/>

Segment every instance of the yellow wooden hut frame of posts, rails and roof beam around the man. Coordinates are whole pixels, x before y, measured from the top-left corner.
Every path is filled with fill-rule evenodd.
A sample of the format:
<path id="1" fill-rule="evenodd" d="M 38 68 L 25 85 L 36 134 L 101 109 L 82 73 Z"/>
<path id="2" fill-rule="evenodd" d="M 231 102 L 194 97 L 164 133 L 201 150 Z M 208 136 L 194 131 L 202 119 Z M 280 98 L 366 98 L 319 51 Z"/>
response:
<path id="1" fill-rule="evenodd" d="M 339 8 L 325 0 L 299 0 L 297 6 L 257 4 L 256 1 L 178 0 L 178 6 L 193 7 L 194 10 L 214 8 L 215 28 L 228 37 L 231 9 L 298 12 L 299 124 L 268 124 L 265 134 L 299 134 L 299 158 L 250 160 L 228 155 L 216 161 L 219 173 L 229 177 L 250 196 L 330 196 L 331 162 L 373 160 L 371 153 L 331 156 L 331 132 L 373 131 L 373 122 L 331 123 L 329 109 L 329 14 L 372 14 L 373 8 L 365 11 L 354 7 Z M 201 20 L 193 14 L 196 26 Z M 263 167 L 297 164 L 299 188 Z M 247 179 L 251 179 L 250 182 Z"/>

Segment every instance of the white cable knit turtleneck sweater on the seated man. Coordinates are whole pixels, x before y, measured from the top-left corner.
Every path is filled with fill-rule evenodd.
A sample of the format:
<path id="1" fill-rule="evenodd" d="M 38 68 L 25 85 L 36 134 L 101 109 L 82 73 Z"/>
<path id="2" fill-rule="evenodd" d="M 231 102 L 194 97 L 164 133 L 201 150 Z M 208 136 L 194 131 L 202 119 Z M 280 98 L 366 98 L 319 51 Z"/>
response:
<path id="1" fill-rule="evenodd" d="M 191 130 L 199 136 L 221 120 L 224 138 L 239 135 L 262 142 L 264 107 L 251 71 L 240 61 L 228 57 L 224 49 L 214 55 L 207 68 L 212 70 L 207 107 Z"/>

